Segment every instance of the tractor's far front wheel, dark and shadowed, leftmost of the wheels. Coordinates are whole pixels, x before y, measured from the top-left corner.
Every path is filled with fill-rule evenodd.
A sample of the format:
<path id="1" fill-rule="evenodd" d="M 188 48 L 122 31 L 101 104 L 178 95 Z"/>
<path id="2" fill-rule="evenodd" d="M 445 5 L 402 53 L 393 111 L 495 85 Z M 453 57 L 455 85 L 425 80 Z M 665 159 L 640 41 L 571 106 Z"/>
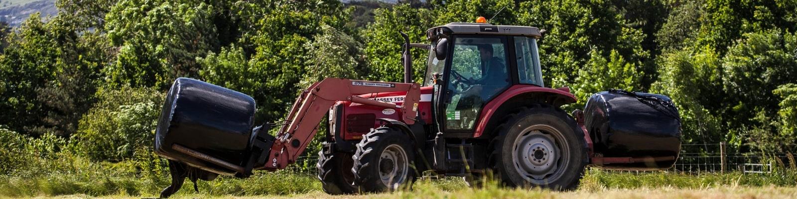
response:
<path id="1" fill-rule="evenodd" d="M 324 192 L 332 195 L 354 193 L 356 190 L 352 185 L 354 174 L 350 172 L 353 165 L 351 154 L 324 154 L 324 150 L 319 151 L 316 163 L 317 178 L 321 181 Z"/>

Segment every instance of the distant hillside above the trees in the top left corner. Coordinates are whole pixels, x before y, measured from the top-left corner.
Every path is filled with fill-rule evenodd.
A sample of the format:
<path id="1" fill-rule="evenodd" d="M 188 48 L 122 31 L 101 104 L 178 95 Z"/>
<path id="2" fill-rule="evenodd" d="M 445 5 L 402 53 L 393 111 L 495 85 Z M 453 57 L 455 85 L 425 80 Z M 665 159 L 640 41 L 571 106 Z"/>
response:
<path id="1" fill-rule="evenodd" d="M 55 0 L 0 0 L 0 21 L 6 21 L 12 27 L 22 25 L 30 14 L 41 12 L 41 16 L 58 14 Z"/>

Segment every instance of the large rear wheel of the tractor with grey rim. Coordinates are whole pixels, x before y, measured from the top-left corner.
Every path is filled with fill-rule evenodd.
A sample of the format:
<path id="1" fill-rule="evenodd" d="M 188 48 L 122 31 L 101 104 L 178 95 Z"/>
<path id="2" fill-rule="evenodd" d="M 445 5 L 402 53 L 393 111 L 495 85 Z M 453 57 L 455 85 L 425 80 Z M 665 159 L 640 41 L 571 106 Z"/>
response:
<path id="1" fill-rule="evenodd" d="M 505 116 L 488 160 L 509 186 L 575 189 L 587 165 L 587 144 L 575 119 L 548 104 Z"/>

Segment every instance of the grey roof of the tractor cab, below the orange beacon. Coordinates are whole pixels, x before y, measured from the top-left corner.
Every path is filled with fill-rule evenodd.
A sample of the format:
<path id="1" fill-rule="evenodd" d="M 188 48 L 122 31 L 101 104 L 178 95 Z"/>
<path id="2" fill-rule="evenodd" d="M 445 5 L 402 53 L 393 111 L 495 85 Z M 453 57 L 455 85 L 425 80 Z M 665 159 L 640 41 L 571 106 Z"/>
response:
<path id="1" fill-rule="evenodd" d="M 455 22 L 446 25 L 440 25 L 426 30 L 426 37 L 432 39 L 437 37 L 437 33 L 454 33 L 454 34 L 507 34 L 507 35 L 524 35 L 530 37 L 540 38 L 542 34 L 540 29 L 532 26 L 520 25 L 492 25 L 488 23 L 462 23 Z"/>

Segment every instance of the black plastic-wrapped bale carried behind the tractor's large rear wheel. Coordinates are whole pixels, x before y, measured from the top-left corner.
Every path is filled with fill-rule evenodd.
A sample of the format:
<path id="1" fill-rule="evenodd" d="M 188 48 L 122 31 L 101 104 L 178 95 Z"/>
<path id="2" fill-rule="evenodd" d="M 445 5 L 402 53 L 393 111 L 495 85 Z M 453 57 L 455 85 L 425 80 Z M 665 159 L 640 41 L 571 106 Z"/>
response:
<path id="1" fill-rule="evenodd" d="M 584 120 L 595 153 L 614 160 L 596 164 L 604 168 L 666 169 L 681 150 L 680 115 L 667 96 L 618 90 L 595 93 L 587 101 Z"/>

